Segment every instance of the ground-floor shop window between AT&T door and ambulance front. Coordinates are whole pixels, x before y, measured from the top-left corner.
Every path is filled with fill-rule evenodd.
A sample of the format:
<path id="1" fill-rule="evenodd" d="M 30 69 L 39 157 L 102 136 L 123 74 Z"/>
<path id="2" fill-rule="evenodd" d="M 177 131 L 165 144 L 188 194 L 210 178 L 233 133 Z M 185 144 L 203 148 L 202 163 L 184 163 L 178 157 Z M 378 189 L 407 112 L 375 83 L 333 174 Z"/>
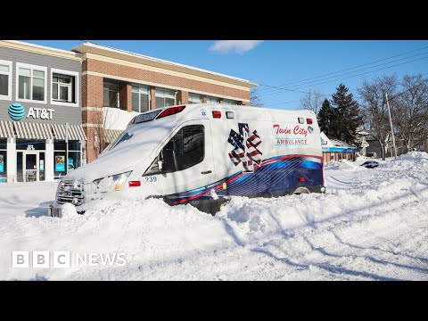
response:
<path id="1" fill-rule="evenodd" d="M 80 141 L 69 140 L 67 160 L 65 157 L 66 146 L 64 140 L 53 141 L 53 174 L 55 179 L 81 166 Z"/>

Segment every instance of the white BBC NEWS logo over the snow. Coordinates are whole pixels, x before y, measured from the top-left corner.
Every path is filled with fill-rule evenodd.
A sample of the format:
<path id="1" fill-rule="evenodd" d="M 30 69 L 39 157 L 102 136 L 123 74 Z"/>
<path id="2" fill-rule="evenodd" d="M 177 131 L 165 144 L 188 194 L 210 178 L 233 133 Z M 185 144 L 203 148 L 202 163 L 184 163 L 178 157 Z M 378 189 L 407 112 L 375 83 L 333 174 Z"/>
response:
<path id="1" fill-rule="evenodd" d="M 70 251 L 12 251 L 12 268 L 123 267 L 125 253 L 74 253 Z"/>

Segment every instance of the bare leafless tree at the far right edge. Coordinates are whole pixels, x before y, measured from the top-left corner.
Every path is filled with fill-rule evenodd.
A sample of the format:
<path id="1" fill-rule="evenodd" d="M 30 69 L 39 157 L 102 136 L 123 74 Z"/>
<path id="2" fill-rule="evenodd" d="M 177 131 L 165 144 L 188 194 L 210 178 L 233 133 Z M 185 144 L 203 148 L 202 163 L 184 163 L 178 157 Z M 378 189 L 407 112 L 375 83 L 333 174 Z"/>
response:
<path id="1" fill-rule="evenodd" d="M 401 81 L 402 94 L 391 99 L 391 109 L 399 129 L 398 136 L 406 144 L 406 152 L 422 146 L 427 135 L 428 78 L 406 75 Z"/>

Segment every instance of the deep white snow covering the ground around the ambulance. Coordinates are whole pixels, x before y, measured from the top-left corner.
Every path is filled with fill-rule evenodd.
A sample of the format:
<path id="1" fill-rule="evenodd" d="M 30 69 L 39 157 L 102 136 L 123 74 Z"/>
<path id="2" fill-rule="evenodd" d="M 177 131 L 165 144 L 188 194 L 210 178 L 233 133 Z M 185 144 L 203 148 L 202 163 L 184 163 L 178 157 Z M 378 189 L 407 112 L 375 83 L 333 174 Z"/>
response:
<path id="1" fill-rule="evenodd" d="M 2 184 L 0 279 L 428 280 L 428 154 L 361 162 L 328 164 L 325 194 L 235 197 L 215 217 L 149 199 L 49 218 L 56 184 Z M 126 264 L 12 268 L 12 251 Z"/>

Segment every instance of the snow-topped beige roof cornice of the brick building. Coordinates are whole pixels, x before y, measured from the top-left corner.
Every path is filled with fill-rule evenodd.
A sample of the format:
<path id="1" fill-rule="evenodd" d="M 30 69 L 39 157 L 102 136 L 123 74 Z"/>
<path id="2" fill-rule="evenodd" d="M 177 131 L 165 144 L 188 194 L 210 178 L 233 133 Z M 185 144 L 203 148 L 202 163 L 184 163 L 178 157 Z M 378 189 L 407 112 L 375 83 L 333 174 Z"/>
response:
<path id="1" fill-rule="evenodd" d="M 162 69 L 167 70 L 176 70 L 185 72 L 188 74 L 193 74 L 196 76 L 204 77 L 204 78 L 212 78 L 215 80 L 235 84 L 238 86 L 245 86 L 248 88 L 251 88 L 253 86 L 257 86 L 256 83 L 252 83 L 251 81 L 243 78 L 236 78 L 233 76 L 224 75 L 218 72 L 210 71 L 210 70 L 203 70 L 200 68 L 195 68 L 192 66 L 188 66 L 182 63 L 177 62 L 169 62 L 166 60 L 162 60 L 159 58 L 153 58 L 150 56 L 146 56 L 144 54 L 140 53 L 131 53 L 125 50 L 120 50 L 116 48 L 111 48 L 106 45 L 97 45 L 91 42 L 85 42 L 81 45 L 78 45 L 71 49 L 74 52 L 77 53 L 93 53 L 98 54 L 106 57 L 116 58 L 123 61 L 128 62 L 136 62 L 141 63 L 144 65 L 149 65 L 152 67 L 158 67 Z"/>

